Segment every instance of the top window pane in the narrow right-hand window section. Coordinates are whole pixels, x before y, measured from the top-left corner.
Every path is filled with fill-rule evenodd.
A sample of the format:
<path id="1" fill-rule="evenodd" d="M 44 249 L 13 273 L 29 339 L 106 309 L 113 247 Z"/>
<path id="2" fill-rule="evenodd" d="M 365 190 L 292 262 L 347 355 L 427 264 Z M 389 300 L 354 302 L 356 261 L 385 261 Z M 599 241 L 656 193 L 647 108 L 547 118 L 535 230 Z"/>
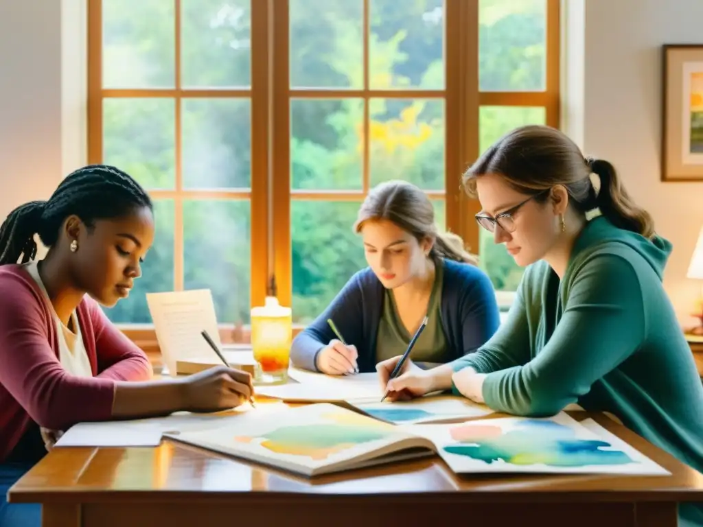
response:
<path id="1" fill-rule="evenodd" d="M 479 0 L 479 89 L 543 91 L 546 0 Z"/>

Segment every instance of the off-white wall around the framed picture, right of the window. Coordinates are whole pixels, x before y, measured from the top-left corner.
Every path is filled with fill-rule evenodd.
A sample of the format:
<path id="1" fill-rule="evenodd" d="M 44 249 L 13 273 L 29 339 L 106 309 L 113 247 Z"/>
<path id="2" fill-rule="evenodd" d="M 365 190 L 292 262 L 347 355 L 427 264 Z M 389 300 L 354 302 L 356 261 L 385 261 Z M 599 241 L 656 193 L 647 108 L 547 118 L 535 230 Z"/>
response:
<path id="1" fill-rule="evenodd" d="M 588 155 L 615 165 L 633 199 L 654 216 L 657 232 L 673 244 L 664 286 L 688 325 L 702 285 L 685 275 L 703 226 L 703 183 L 660 181 L 661 45 L 703 44 L 703 2 L 566 4 L 565 130 Z"/>

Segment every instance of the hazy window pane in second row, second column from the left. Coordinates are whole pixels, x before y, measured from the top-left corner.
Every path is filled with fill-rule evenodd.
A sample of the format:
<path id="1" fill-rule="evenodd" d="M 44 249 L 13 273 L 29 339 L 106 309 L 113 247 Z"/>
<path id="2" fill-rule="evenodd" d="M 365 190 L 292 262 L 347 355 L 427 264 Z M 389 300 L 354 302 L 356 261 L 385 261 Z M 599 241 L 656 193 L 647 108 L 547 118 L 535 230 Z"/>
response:
<path id="1" fill-rule="evenodd" d="M 183 99 L 183 187 L 251 186 L 251 105 L 246 98 Z"/>

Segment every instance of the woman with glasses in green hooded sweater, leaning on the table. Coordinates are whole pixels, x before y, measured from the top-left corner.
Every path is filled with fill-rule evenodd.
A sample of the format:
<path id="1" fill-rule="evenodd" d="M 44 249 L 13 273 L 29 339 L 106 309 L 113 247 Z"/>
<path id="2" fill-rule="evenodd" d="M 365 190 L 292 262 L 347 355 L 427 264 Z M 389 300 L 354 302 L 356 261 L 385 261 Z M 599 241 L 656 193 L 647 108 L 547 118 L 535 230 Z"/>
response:
<path id="1" fill-rule="evenodd" d="M 476 353 L 432 370 L 377 367 L 389 398 L 437 390 L 543 417 L 570 403 L 611 412 L 703 471 L 703 385 L 662 286 L 671 244 L 609 162 L 560 131 L 515 129 L 466 172 L 480 226 L 527 266 L 507 320 Z M 703 506 L 681 505 L 681 526 Z"/>

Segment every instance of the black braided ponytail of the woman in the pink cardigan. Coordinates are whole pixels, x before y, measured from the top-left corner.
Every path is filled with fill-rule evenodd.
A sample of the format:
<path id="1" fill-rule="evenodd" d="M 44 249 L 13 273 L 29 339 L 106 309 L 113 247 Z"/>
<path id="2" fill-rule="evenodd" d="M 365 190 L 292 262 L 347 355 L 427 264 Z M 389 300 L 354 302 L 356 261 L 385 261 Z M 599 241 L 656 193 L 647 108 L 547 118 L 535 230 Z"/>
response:
<path id="1" fill-rule="evenodd" d="M 30 201 L 20 205 L 8 214 L 0 226 L 0 266 L 8 263 L 27 263 L 37 256 L 37 242 L 34 235 L 39 233 L 41 215 L 45 201 Z"/>

